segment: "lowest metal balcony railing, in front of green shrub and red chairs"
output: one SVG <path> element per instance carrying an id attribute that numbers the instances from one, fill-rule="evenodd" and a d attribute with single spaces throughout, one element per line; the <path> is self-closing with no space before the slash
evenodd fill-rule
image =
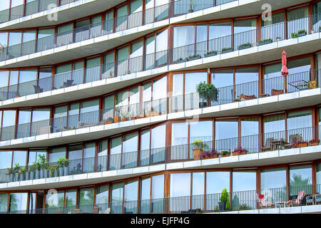
<path id="1" fill-rule="evenodd" d="M 250 209 L 303 207 L 321 204 L 321 185 L 47 207 L 1 214 L 195 214 Z M 93 202 L 93 199 L 92 199 Z"/>

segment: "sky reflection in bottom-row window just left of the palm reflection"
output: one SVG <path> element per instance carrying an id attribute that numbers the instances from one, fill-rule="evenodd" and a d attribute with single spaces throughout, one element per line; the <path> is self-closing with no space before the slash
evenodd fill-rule
<path id="1" fill-rule="evenodd" d="M 287 174 L 285 168 L 261 171 L 261 189 L 286 187 Z"/>

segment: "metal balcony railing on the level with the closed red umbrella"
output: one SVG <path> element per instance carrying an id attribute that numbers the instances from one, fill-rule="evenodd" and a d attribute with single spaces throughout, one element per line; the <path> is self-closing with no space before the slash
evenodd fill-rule
<path id="1" fill-rule="evenodd" d="M 213 107 L 227 103 L 263 98 L 283 93 L 319 88 L 317 76 L 320 70 L 293 73 L 287 77 L 267 78 L 260 81 L 236 84 L 203 91 L 187 93 L 158 100 L 150 100 L 129 105 L 116 105 L 114 108 L 95 110 L 74 115 L 61 115 L 57 118 L 11 125 L 0 128 L 0 141 L 30 136 L 58 133 L 65 130 L 118 123 L 138 118 L 152 117 L 184 110 Z"/>

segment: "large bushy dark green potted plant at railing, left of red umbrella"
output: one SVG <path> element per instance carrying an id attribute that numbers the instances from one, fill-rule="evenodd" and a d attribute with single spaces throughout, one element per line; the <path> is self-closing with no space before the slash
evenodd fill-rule
<path id="1" fill-rule="evenodd" d="M 200 108 L 205 108 L 207 105 L 211 106 L 211 101 L 218 100 L 218 89 L 213 84 L 200 82 L 196 86 L 196 92 L 200 95 Z"/>

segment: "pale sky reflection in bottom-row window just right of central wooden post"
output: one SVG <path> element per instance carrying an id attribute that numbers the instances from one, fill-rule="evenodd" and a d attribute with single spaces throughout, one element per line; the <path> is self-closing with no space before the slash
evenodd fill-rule
<path id="1" fill-rule="evenodd" d="M 170 197 L 190 195 L 190 173 L 170 174 Z"/>

